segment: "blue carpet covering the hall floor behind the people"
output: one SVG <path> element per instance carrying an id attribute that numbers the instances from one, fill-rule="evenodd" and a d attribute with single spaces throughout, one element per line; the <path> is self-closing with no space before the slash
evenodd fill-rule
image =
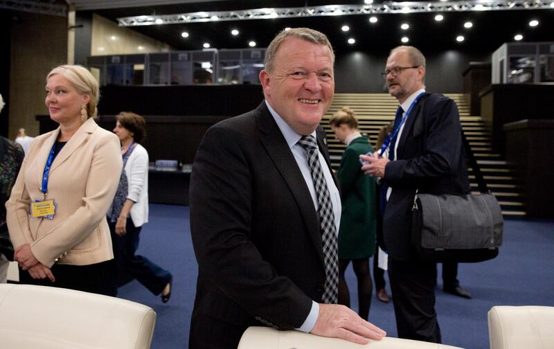
<path id="1" fill-rule="evenodd" d="M 119 290 L 121 298 L 143 303 L 157 312 L 154 349 L 188 346 L 197 276 L 188 215 L 185 206 L 150 205 L 150 223 L 141 232 L 139 254 L 174 276 L 169 303 L 161 303 L 136 280 Z M 352 308 L 357 310 L 356 279 L 351 267 L 346 278 Z M 554 306 L 554 222 L 506 221 L 499 256 L 487 262 L 461 264 L 458 279 L 472 293 L 472 299 L 443 293 L 442 280 L 438 280 L 436 310 L 443 343 L 468 349 L 489 348 L 487 312 L 493 305 Z M 392 303 L 374 297 L 369 317 L 389 336 L 396 337 Z"/>

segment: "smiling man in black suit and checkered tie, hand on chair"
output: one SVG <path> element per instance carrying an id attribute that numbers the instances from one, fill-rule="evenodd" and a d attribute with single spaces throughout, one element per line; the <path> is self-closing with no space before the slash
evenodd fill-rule
<path id="1" fill-rule="evenodd" d="M 322 33 L 283 30 L 260 72 L 265 100 L 208 129 L 199 146 L 191 349 L 236 348 L 252 325 L 358 343 L 385 335 L 332 304 L 341 205 L 319 123 L 334 94 L 333 63 Z"/>

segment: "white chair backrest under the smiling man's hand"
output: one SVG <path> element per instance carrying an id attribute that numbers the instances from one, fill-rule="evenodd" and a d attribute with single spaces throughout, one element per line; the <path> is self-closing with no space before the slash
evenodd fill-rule
<path id="1" fill-rule="evenodd" d="M 343 339 L 319 337 L 300 331 L 278 331 L 273 328 L 249 327 L 238 343 L 238 349 L 461 349 L 443 344 L 411 341 L 385 337 L 381 341 L 370 341 L 365 346 Z"/>

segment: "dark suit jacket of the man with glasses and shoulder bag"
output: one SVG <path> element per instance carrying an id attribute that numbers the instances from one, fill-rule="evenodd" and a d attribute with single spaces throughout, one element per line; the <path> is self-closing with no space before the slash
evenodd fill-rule
<path id="1" fill-rule="evenodd" d="M 396 260 L 412 260 L 411 208 L 419 193 L 462 194 L 467 179 L 460 115 L 454 100 L 425 93 L 406 119 L 397 157 L 387 163 L 386 183 L 393 188 L 383 217 L 386 251 Z"/>

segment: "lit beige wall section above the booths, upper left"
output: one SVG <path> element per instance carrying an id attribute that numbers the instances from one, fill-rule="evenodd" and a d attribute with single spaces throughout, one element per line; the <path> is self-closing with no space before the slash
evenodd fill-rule
<path id="1" fill-rule="evenodd" d="M 142 49 L 139 49 L 141 46 Z M 166 52 L 170 46 L 123 28 L 104 17 L 92 16 L 91 55 Z"/>

